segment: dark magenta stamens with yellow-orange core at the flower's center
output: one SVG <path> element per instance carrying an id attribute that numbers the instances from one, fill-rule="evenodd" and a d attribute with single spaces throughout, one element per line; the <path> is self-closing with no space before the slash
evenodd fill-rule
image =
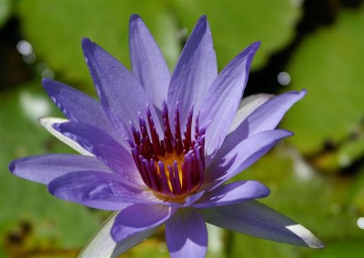
<path id="1" fill-rule="evenodd" d="M 144 183 L 158 197 L 179 201 L 195 193 L 204 181 L 205 128 L 199 128 L 198 115 L 192 137 L 192 109 L 187 116 L 186 130 L 181 134 L 176 106 L 174 133 L 168 119 L 166 102 L 162 106 L 164 137 L 159 138 L 149 107 L 147 123 L 139 114 L 139 130 L 131 124 L 134 141 L 129 140 L 136 168 Z"/>

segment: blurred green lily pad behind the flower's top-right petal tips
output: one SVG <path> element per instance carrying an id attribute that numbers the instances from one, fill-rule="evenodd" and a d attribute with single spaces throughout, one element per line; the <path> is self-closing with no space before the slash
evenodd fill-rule
<path id="1" fill-rule="evenodd" d="M 262 45 L 253 67 L 260 67 L 272 52 L 292 39 L 300 17 L 300 6 L 294 2 L 297 1 L 176 0 L 174 9 L 178 20 L 189 30 L 200 15 L 207 15 L 219 69 L 255 41 Z"/>

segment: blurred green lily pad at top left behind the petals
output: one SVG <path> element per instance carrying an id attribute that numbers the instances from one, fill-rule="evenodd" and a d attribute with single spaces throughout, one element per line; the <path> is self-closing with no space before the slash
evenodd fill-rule
<path id="1" fill-rule="evenodd" d="M 180 52 L 176 22 L 164 1 L 21 1 L 17 5 L 26 39 L 35 55 L 66 80 L 91 85 L 81 39 L 89 37 L 130 67 L 128 20 L 131 14 L 143 17 L 156 37 L 169 65 Z M 153 9 L 153 12 L 150 10 Z"/>

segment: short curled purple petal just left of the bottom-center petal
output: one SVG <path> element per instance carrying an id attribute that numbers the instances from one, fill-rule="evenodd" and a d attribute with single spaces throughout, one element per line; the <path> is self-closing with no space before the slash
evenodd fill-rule
<path id="1" fill-rule="evenodd" d="M 174 212 L 174 209 L 160 204 L 129 206 L 116 216 L 111 235 L 116 242 L 125 242 L 137 233 L 157 229 Z"/>

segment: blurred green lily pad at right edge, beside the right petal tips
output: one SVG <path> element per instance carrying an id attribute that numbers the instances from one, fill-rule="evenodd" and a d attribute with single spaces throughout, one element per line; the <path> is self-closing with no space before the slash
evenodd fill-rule
<path id="1" fill-rule="evenodd" d="M 306 88 L 308 94 L 282 127 L 298 135 L 289 142 L 304 154 L 319 152 L 326 142 L 337 146 L 362 122 L 363 26 L 364 8 L 342 11 L 334 25 L 308 35 L 288 64 L 292 83 L 285 91 Z"/>

